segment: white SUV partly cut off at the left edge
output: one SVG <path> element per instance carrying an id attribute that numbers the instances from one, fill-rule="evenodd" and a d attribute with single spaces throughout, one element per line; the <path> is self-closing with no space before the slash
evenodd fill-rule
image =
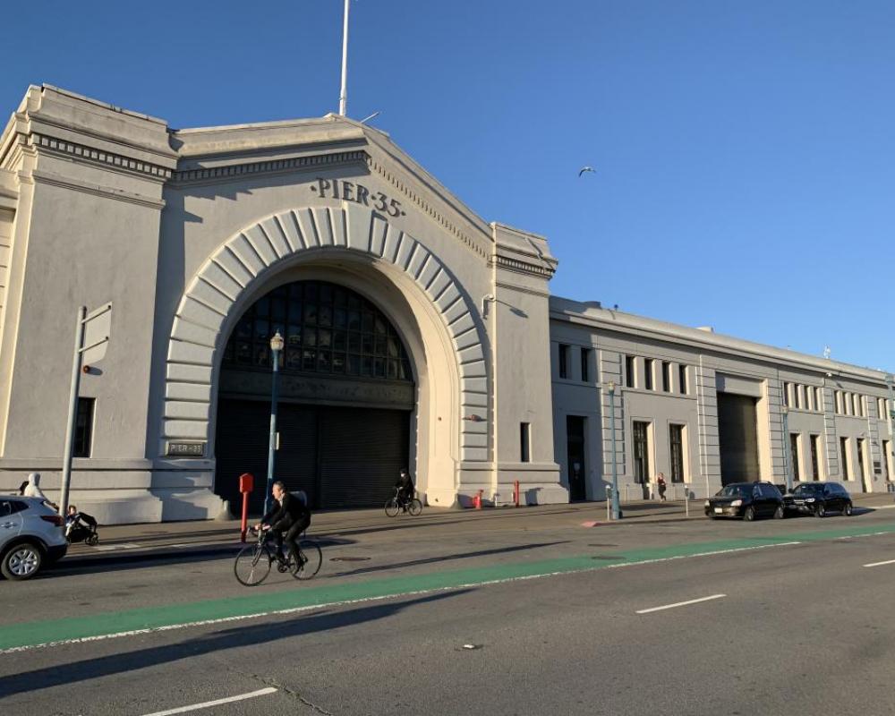
<path id="1" fill-rule="evenodd" d="M 68 549 L 63 519 L 43 499 L 0 495 L 0 572 L 30 579 Z"/>

